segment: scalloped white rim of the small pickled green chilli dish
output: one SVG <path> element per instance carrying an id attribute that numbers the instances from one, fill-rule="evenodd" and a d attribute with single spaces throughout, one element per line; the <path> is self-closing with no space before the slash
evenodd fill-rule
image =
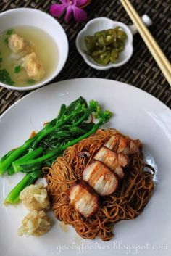
<path id="1" fill-rule="evenodd" d="M 120 63 L 113 63 L 113 64 L 109 64 L 107 66 L 103 66 L 103 65 L 96 65 L 94 64 L 93 62 L 91 62 L 88 57 L 87 57 L 87 54 L 83 52 L 82 49 L 80 49 L 80 45 L 79 45 L 79 41 L 80 41 L 80 38 L 82 36 L 82 33 L 84 33 L 87 29 L 88 29 L 88 26 L 91 25 L 91 23 L 93 22 L 97 22 L 99 20 L 108 20 L 110 22 L 117 22 L 117 24 L 119 25 L 122 25 L 126 30 L 129 31 L 129 41 L 128 41 L 128 44 L 129 44 L 129 47 L 130 47 L 130 54 L 128 55 L 128 57 L 126 57 L 122 62 Z M 133 55 L 133 33 L 131 33 L 131 30 L 130 28 L 128 27 L 128 25 L 125 25 L 125 23 L 123 22 L 120 22 L 120 21 L 117 21 L 117 20 L 112 20 L 108 17 L 96 17 L 92 20 L 90 20 L 86 25 L 85 27 L 79 31 L 78 35 L 77 35 L 77 38 L 76 38 L 76 41 L 75 41 L 75 44 L 76 44 L 76 48 L 78 49 L 78 52 L 79 54 L 83 57 L 84 61 L 91 67 L 93 67 L 94 69 L 96 70 L 109 70 L 110 68 L 114 68 L 114 67 L 121 67 L 122 65 L 125 65 L 126 62 L 128 62 L 128 60 L 132 57 Z"/>

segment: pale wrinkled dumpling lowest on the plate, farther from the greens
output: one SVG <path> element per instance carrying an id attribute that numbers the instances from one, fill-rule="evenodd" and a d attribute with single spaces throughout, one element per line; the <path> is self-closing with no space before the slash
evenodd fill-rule
<path id="1" fill-rule="evenodd" d="M 18 228 L 17 234 L 19 236 L 33 235 L 42 236 L 51 228 L 51 219 L 46 216 L 46 213 L 41 210 L 33 210 L 22 220 L 22 226 Z"/>

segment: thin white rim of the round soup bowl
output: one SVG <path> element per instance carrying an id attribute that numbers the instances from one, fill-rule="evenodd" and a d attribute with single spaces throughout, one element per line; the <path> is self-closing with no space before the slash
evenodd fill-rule
<path id="1" fill-rule="evenodd" d="M 61 72 L 61 70 L 63 69 L 63 67 L 64 67 L 64 65 L 67 61 L 68 52 L 69 52 L 69 42 L 68 42 L 67 34 L 65 33 L 64 28 L 62 27 L 62 25 L 54 17 L 52 17 L 51 15 L 49 15 L 46 12 L 41 11 L 40 9 L 33 9 L 33 8 L 27 8 L 27 7 L 9 9 L 5 12 L 0 13 L 0 19 L 1 19 L 1 17 L 5 16 L 5 15 L 8 15 L 11 12 L 35 12 L 35 13 L 39 13 L 40 15 L 44 15 L 44 17 L 52 20 L 54 23 L 57 22 L 59 27 L 62 30 L 62 34 L 64 36 L 64 41 L 66 42 L 66 49 L 64 50 L 65 55 L 64 55 L 64 57 L 62 57 L 62 59 L 64 59 L 63 65 L 59 68 L 58 71 L 56 71 L 57 69 L 54 70 L 54 73 L 52 73 L 49 76 L 49 78 L 46 78 L 46 80 L 43 80 L 42 82 L 37 83 L 34 86 L 9 86 L 8 84 L 2 83 L 2 82 L 0 82 L 0 86 L 2 86 L 4 88 L 9 88 L 9 89 L 12 89 L 12 90 L 15 90 L 15 91 L 29 91 L 29 90 L 33 90 L 33 89 L 36 89 L 36 88 L 40 88 L 41 86 L 45 86 L 51 80 L 56 78 L 57 75 L 59 75 L 59 73 Z"/>

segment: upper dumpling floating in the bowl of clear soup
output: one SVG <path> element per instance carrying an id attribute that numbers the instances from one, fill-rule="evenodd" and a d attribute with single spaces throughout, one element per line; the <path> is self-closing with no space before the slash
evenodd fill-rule
<path id="1" fill-rule="evenodd" d="M 20 35 L 12 34 L 9 36 L 8 40 L 9 48 L 14 52 L 14 54 L 28 54 L 31 51 L 34 51 L 34 45 L 31 42 L 28 42 Z"/>

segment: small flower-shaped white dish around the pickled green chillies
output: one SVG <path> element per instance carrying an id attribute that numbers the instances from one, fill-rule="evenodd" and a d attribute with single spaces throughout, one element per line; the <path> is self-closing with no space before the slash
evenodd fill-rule
<path id="1" fill-rule="evenodd" d="M 120 52 L 120 57 L 115 63 L 108 64 L 106 66 L 99 65 L 93 60 L 93 58 L 91 58 L 91 56 L 88 56 L 88 54 L 86 54 L 86 44 L 84 38 L 85 36 L 93 36 L 94 33 L 98 31 L 106 30 L 109 28 L 116 28 L 117 26 L 122 28 L 122 30 L 124 30 L 128 36 L 125 41 L 125 49 L 124 51 Z M 83 30 L 80 30 L 76 38 L 76 47 L 80 55 L 89 66 L 95 68 L 96 70 L 109 70 L 109 68 L 120 67 L 128 62 L 133 54 L 133 34 L 131 33 L 128 26 L 124 23 L 110 20 L 107 17 L 99 17 L 89 21 L 86 24 L 85 28 L 83 28 Z"/>

